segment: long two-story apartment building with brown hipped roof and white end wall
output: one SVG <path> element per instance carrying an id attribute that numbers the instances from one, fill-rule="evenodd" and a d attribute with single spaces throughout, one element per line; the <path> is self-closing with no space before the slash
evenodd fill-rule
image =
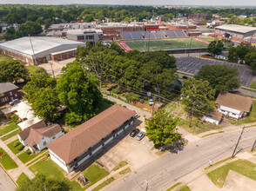
<path id="1" fill-rule="evenodd" d="M 131 127 L 135 114 L 129 109 L 113 105 L 48 144 L 51 160 L 71 173 Z"/>

